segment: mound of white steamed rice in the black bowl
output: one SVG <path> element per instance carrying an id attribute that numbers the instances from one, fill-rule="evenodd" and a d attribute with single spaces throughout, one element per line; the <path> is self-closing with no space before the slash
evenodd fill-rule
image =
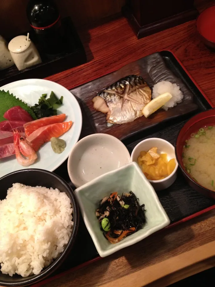
<path id="1" fill-rule="evenodd" d="M 1 272 L 39 274 L 69 241 L 72 212 L 70 199 L 58 189 L 13 184 L 0 201 Z"/>

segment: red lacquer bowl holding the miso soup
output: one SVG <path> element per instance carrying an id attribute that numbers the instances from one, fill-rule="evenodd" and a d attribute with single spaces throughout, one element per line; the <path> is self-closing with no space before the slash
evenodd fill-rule
<path id="1" fill-rule="evenodd" d="M 191 133 L 198 131 L 203 126 L 215 126 L 215 109 L 210 109 L 205 112 L 201 112 L 194 117 L 191 117 L 185 125 L 180 130 L 176 144 L 175 144 L 175 152 L 176 159 L 178 161 L 179 167 L 182 170 L 183 175 L 185 176 L 188 184 L 199 193 L 204 194 L 205 196 L 212 197 L 215 199 L 215 192 L 213 190 L 207 189 L 202 185 L 198 184 L 194 181 L 188 172 L 186 172 L 185 167 L 182 162 L 182 152 L 185 141 L 190 137 Z"/>

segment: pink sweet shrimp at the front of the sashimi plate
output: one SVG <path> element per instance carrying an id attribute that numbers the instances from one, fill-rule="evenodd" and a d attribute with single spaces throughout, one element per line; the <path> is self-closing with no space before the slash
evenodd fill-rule
<path id="1" fill-rule="evenodd" d="M 13 131 L 13 142 L 15 147 L 16 159 L 23 167 L 33 164 L 37 155 L 34 149 L 28 144 L 25 138 L 20 137 L 19 132 Z M 24 158 L 26 157 L 26 158 Z"/>

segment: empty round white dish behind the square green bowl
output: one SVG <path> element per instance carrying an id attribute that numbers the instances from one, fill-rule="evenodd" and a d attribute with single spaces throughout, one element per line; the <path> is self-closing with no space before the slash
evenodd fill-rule
<path id="1" fill-rule="evenodd" d="M 76 187 L 131 161 L 126 146 L 107 134 L 93 134 L 82 138 L 68 158 L 69 177 Z"/>

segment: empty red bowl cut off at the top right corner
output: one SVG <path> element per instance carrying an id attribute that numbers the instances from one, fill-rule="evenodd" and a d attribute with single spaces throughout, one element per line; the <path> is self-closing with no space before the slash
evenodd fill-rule
<path id="1" fill-rule="evenodd" d="M 215 49 L 215 5 L 199 14 L 196 29 L 202 42 L 209 48 Z"/>

